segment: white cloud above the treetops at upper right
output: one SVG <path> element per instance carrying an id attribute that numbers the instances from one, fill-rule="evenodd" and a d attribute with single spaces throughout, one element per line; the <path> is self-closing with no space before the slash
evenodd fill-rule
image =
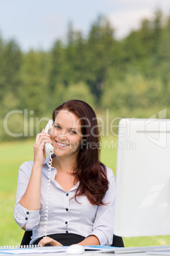
<path id="1" fill-rule="evenodd" d="M 149 9 L 143 10 L 122 10 L 108 15 L 110 24 L 115 29 L 115 37 L 117 39 L 127 36 L 130 31 L 139 29 L 141 20 L 144 18 L 152 19 L 153 11 Z"/>

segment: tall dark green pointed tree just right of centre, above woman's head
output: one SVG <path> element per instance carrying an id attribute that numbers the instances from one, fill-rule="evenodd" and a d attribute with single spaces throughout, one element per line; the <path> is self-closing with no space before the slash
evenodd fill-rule
<path id="1" fill-rule="evenodd" d="M 107 69 L 112 63 L 114 42 L 114 29 L 107 19 L 98 17 L 91 27 L 87 42 L 89 72 L 86 80 L 97 99 L 100 99 Z"/>

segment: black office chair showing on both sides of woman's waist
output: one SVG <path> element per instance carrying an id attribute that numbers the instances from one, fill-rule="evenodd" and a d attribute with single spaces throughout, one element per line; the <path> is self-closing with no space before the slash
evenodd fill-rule
<path id="1" fill-rule="evenodd" d="M 23 238 L 22 238 L 21 245 L 29 245 L 31 236 L 32 236 L 32 231 L 25 231 Z M 124 247 L 123 239 L 121 238 L 121 236 L 114 235 L 111 246 Z"/>

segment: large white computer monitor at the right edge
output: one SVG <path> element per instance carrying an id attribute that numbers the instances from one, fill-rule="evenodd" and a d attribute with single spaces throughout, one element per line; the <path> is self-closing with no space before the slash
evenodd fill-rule
<path id="1" fill-rule="evenodd" d="M 119 122 L 114 234 L 170 234 L 169 119 Z"/>

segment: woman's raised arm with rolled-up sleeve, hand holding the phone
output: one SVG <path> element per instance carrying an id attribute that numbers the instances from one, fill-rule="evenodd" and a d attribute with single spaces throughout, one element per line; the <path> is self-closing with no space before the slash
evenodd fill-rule
<path id="1" fill-rule="evenodd" d="M 49 135 L 42 130 L 37 134 L 34 143 L 34 162 L 22 164 L 18 174 L 18 186 L 15 204 L 15 220 L 27 230 L 35 229 L 39 223 L 39 209 L 41 207 L 41 173 L 44 160 L 44 144 L 51 143 Z"/>

